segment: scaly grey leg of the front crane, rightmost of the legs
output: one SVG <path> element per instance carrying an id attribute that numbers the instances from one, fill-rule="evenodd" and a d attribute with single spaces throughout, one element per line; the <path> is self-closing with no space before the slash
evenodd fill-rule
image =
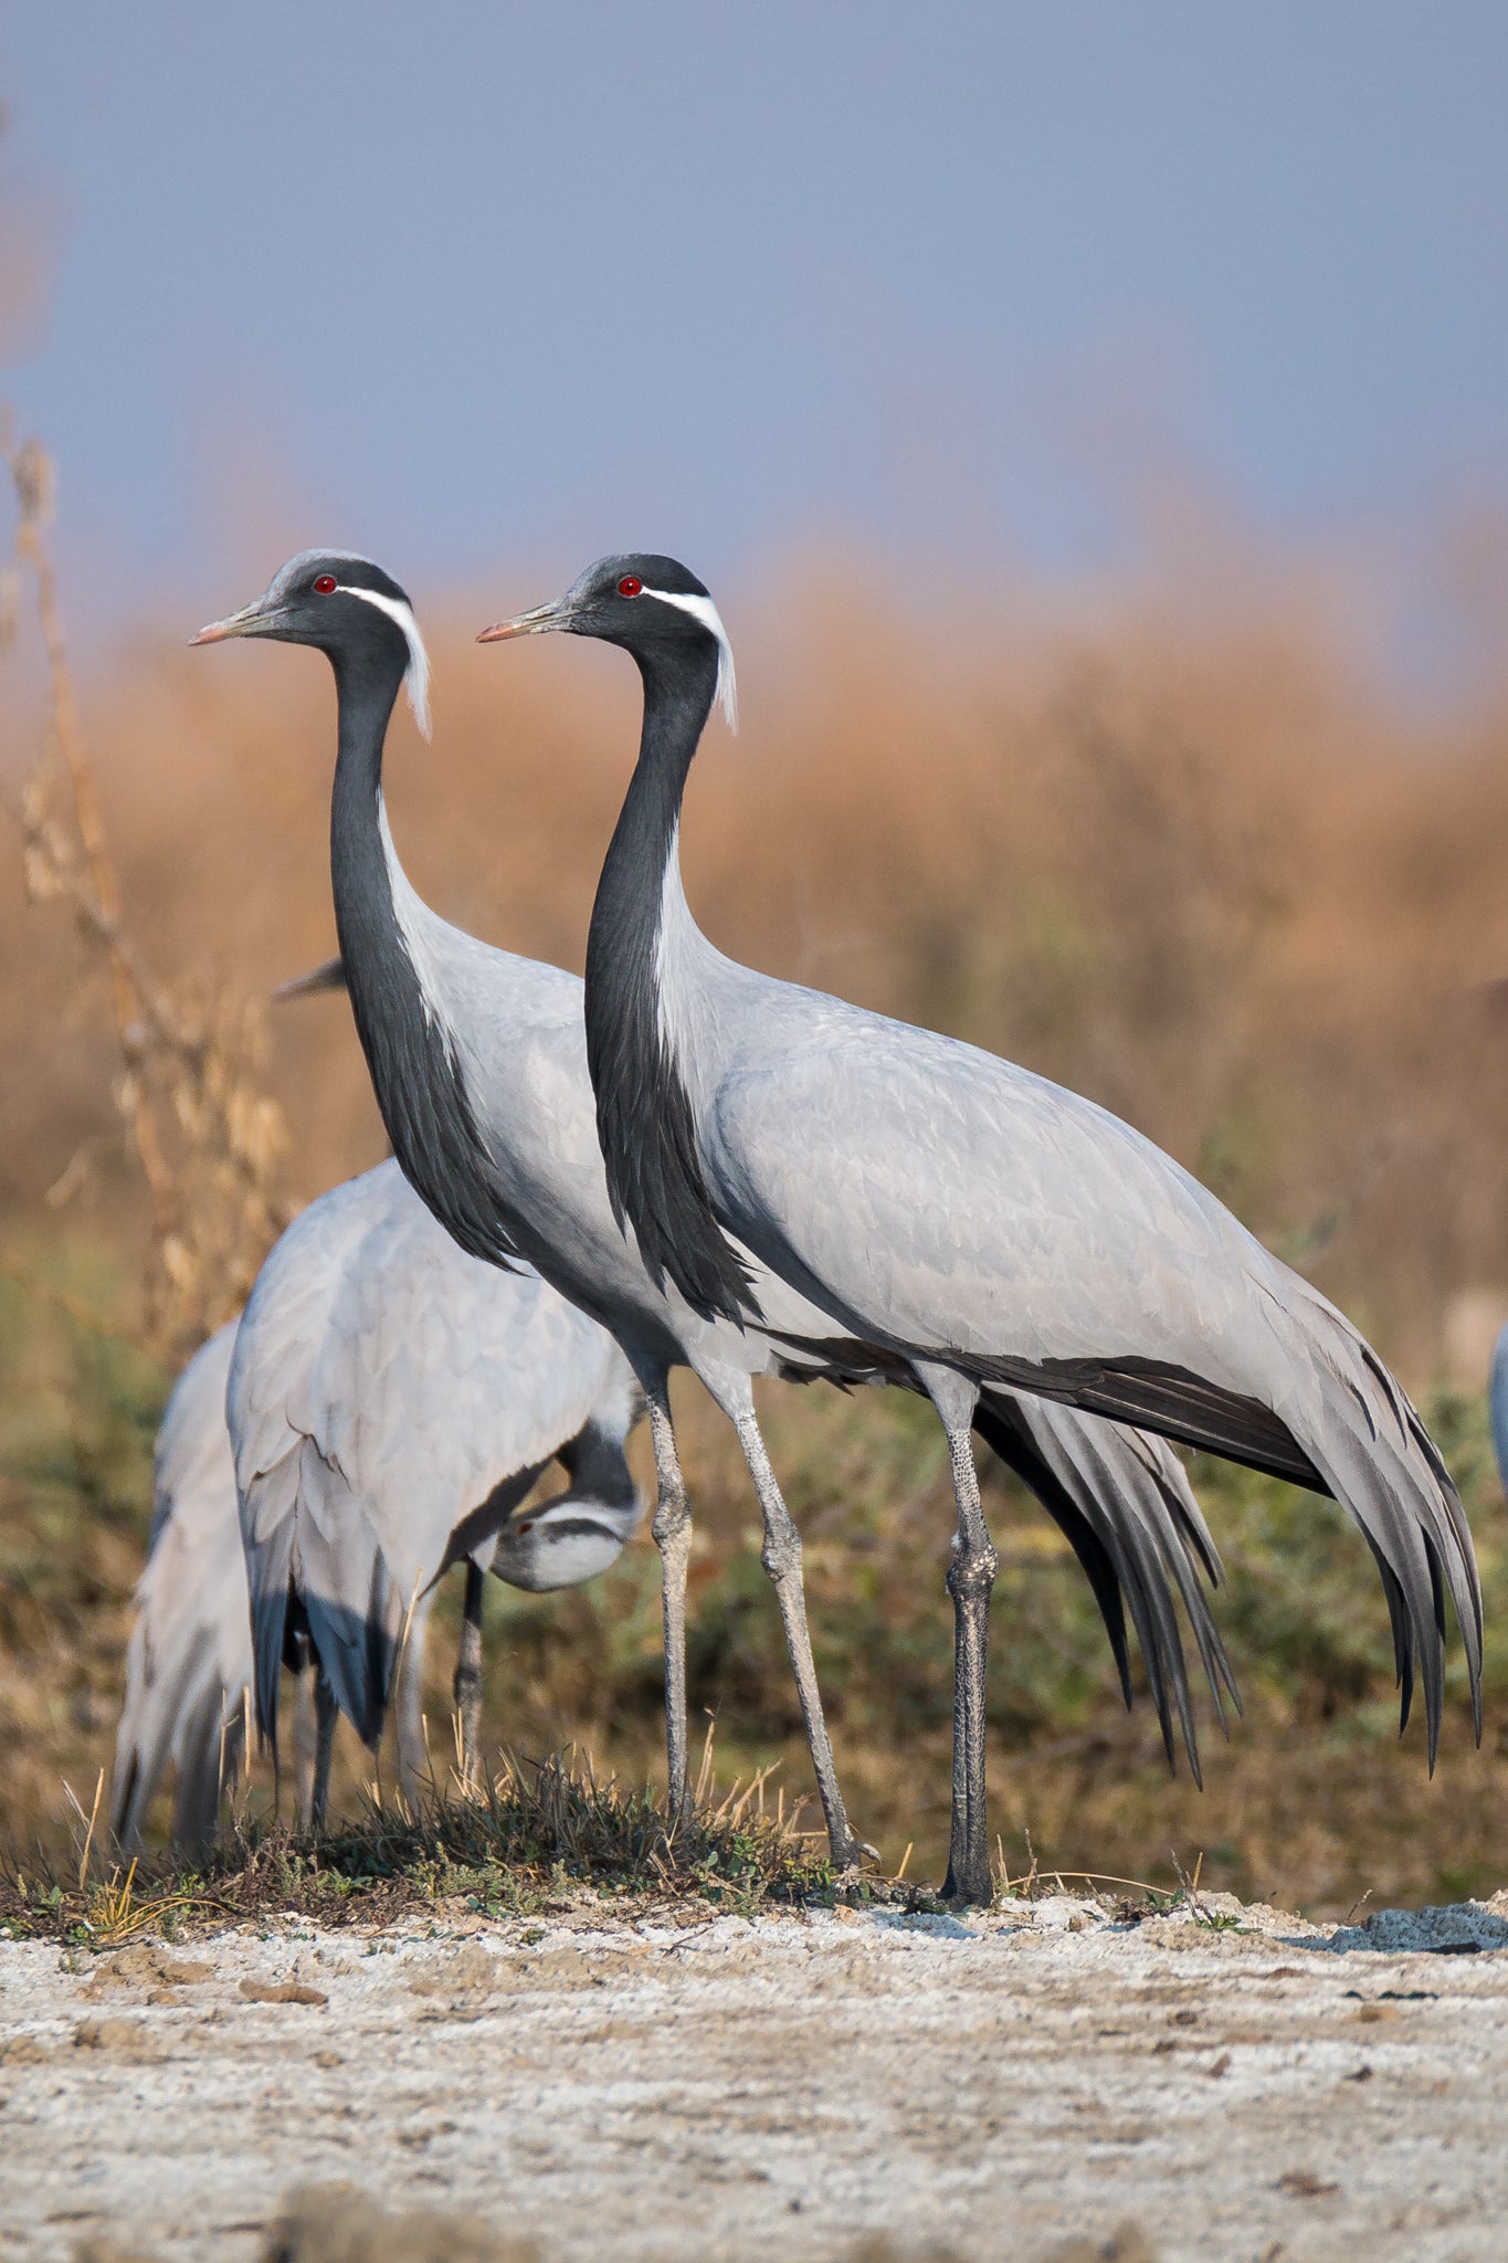
<path id="1" fill-rule="evenodd" d="M 990 1589 L 999 1557 L 979 1505 L 979 1471 L 970 1437 L 977 1392 L 950 1369 L 927 1369 L 922 1380 L 947 1430 L 959 1505 L 954 1559 L 947 1566 L 947 1593 L 954 1600 L 954 1797 L 943 1899 L 988 1910 L 995 1881 L 983 1795 L 983 1668 L 990 1643 Z"/>

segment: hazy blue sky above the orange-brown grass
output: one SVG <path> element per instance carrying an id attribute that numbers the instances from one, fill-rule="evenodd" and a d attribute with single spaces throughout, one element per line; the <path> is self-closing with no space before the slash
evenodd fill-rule
<path id="1" fill-rule="evenodd" d="M 1169 466 L 1508 500 L 1501 0 L 9 0 L 0 91 L 86 622 L 303 541 L 1097 570 Z"/>

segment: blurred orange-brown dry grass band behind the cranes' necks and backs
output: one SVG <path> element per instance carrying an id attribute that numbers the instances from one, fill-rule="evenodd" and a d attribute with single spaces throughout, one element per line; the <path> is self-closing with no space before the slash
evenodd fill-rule
<path id="1" fill-rule="evenodd" d="M 448 914 L 579 964 L 635 679 L 595 647 L 470 643 L 531 593 L 432 613 L 436 742 L 396 724 L 393 826 Z M 1298 611 L 1126 600 L 1026 643 L 1006 600 L 918 622 L 794 570 L 733 613 L 746 731 L 710 740 L 685 831 L 726 948 L 1126 1113 L 1415 1380 L 1463 1297 L 1508 1310 L 1508 1016 L 1483 993 L 1508 973 L 1508 699 L 1406 715 Z M 99 801 L 147 960 L 258 998 L 332 948 L 332 690 L 314 654 L 185 652 L 183 627 L 86 681 Z M 18 885 L 0 950 L 0 1222 L 34 1222 L 84 1147 L 79 1217 L 129 1247 L 99 975 Z M 339 1000 L 274 1016 L 271 1089 L 305 1193 L 382 1152 Z"/>

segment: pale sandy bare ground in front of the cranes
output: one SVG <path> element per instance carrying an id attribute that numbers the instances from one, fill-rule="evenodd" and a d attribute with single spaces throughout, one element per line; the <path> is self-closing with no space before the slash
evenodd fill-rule
<path id="1" fill-rule="evenodd" d="M 298 2184 L 549 2256 L 1508 2256 L 1508 1896 L 1336 1933 L 1058 1896 L 84 1957 L 0 1944 L 0 2258 L 251 2263 Z"/>

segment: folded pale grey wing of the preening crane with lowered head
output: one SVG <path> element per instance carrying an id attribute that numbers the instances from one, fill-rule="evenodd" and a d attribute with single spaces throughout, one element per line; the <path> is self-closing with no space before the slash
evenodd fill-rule
<path id="1" fill-rule="evenodd" d="M 396 1163 L 301 1213 L 251 1292 L 228 1394 L 267 1733 L 289 1584 L 375 1740 L 454 1528 L 574 1437 L 615 1358 L 538 1274 L 466 1256 Z"/>

